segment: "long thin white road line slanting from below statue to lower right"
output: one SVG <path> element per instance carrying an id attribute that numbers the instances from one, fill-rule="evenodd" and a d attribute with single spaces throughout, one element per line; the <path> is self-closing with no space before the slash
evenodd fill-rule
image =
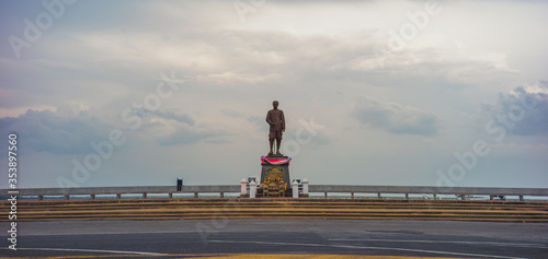
<path id="1" fill-rule="evenodd" d="M 230 242 L 230 240 L 208 240 L 208 242 L 212 242 L 212 243 L 232 243 L 232 244 L 282 245 L 282 246 L 285 245 L 285 246 L 338 247 L 338 248 L 353 248 L 353 249 L 376 249 L 376 250 L 415 251 L 415 252 L 424 252 L 424 254 L 438 254 L 438 255 L 452 255 L 452 256 L 468 256 L 468 257 L 525 259 L 525 258 L 518 258 L 518 257 L 505 257 L 505 256 L 481 255 L 481 254 L 467 254 L 467 252 L 453 252 L 453 251 L 435 251 L 435 250 L 409 249 L 409 248 L 397 248 L 397 247 L 367 247 L 367 246 L 347 246 L 347 245 L 277 243 L 277 242 Z"/>

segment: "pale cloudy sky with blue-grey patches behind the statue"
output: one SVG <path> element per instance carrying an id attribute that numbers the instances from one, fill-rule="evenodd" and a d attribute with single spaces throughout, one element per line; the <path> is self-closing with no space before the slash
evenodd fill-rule
<path id="1" fill-rule="evenodd" d="M 44 2 L 0 1 L 20 187 L 237 185 L 274 99 L 293 178 L 548 187 L 545 1 Z"/>

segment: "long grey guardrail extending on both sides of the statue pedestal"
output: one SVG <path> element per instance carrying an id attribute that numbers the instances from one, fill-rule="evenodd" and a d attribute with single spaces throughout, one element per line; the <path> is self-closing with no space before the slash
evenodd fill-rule
<path id="1" fill-rule="evenodd" d="M 548 197 L 548 188 L 494 188 L 494 187 L 427 187 L 427 186 L 350 186 L 350 185 L 309 185 L 309 192 L 323 192 L 328 197 L 329 192 L 336 193 L 399 193 L 406 195 L 458 195 L 465 198 L 467 195 L 483 195 L 490 196 L 491 199 L 496 196 L 518 196 L 520 200 L 524 200 L 524 196 L 545 196 Z M 16 193 L 15 193 L 16 191 Z M 173 193 L 220 193 L 224 197 L 225 192 L 240 193 L 241 189 L 238 185 L 216 185 L 216 186 L 183 186 L 181 191 L 176 190 L 175 186 L 130 186 L 130 187 L 80 187 L 80 188 L 22 188 L 22 189 L 0 189 L 0 196 L 37 196 L 43 199 L 44 196 L 65 196 L 69 199 L 70 196 L 89 195 L 94 199 L 96 195 L 121 195 L 141 193 L 142 198 L 147 198 L 147 193 L 168 193 L 172 198 Z"/>

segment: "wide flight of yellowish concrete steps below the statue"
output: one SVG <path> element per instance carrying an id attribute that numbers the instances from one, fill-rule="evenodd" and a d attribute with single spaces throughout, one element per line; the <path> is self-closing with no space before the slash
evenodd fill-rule
<path id="1" fill-rule="evenodd" d="M 7 201 L 0 213 L 8 213 Z M 548 222 L 548 202 L 372 199 L 118 199 L 18 201 L 18 221 L 384 219 Z M 8 217 L 0 221 L 8 221 Z"/>

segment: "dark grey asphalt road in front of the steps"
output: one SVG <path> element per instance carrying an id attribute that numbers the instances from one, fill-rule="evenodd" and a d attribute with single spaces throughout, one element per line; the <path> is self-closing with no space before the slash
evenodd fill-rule
<path id="1" fill-rule="evenodd" d="M 0 226 L 9 229 L 7 222 Z M 18 250 L 8 249 L 7 238 L 2 244 L 0 255 L 7 257 L 313 254 L 548 258 L 548 224 L 222 217 L 19 222 Z"/>

